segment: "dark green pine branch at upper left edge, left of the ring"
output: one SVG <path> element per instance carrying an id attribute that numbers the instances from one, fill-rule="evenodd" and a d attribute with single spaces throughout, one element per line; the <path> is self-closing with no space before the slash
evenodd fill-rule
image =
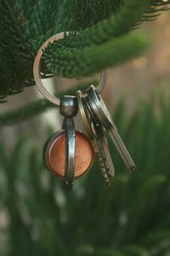
<path id="1" fill-rule="evenodd" d="M 35 55 L 26 30 L 26 20 L 15 1 L 0 2 L 1 97 L 19 92 L 31 77 Z"/>

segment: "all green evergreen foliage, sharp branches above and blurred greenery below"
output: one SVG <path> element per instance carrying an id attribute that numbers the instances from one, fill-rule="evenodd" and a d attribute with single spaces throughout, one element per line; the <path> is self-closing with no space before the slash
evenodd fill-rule
<path id="1" fill-rule="evenodd" d="M 44 52 L 43 77 L 48 73 L 67 78 L 88 76 L 144 54 L 150 41 L 137 28 L 144 21 L 155 20 L 169 8 L 169 3 L 1 0 L 1 102 L 35 84 L 34 57 L 40 45 L 54 33 L 69 31 L 70 35 L 49 45 Z M 77 84 L 74 90 L 83 86 Z M 71 90 L 65 94 L 71 94 Z M 160 119 L 154 111 L 158 106 Z M 47 108 L 53 106 L 45 100 L 31 102 L 1 114 L 0 126 L 16 124 Z M 116 108 L 114 119 L 140 172 L 125 172 L 111 148 L 119 170 L 111 189 L 105 189 L 94 165 L 67 195 L 42 166 L 42 147 L 20 138 L 11 154 L 7 154 L 1 143 L 0 207 L 6 209 L 9 222 L 6 229 L 0 230 L 4 239 L 0 254 L 168 255 L 169 111 L 169 103 L 162 96 L 153 96 L 148 104 L 141 104 L 130 120 L 126 119 L 122 102 Z"/>

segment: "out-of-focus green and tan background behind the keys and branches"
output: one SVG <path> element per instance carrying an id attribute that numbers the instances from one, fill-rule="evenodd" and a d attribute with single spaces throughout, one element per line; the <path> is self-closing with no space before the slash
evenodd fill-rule
<path id="1" fill-rule="evenodd" d="M 109 141 L 116 166 L 111 188 L 95 163 L 68 194 L 42 164 L 55 113 L 1 128 L 1 256 L 170 255 L 169 20 L 165 13 L 143 26 L 153 46 L 144 57 L 110 69 L 103 94 L 137 172 L 127 172 Z M 35 91 L 13 96 L 1 111 L 22 106 Z"/>

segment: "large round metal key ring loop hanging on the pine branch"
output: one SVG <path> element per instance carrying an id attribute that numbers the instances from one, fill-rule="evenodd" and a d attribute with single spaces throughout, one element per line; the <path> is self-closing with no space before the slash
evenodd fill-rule
<path id="1" fill-rule="evenodd" d="M 41 78 L 41 72 L 40 72 L 41 57 L 43 54 L 43 50 L 48 47 L 48 44 L 53 44 L 54 41 L 63 39 L 65 37 L 65 34 L 68 35 L 69 32 L 60 32 L 58 34 L 55 34 L 51 38 L 48 38 L 42 44 L 42 46 L 38 49 L 37 55 L 34 60 L 34 65 L 33 65 L 34 80 L 37 84 L 38 90 L 41 92 L 42 96 L 44 96 L 49 102 L 52 102 L 52 103 L 54 103 L 54 105 L 57 105 L 57 106 L 59 106 L 59 103 L 60 103 L 59 98 L 54 96 L 53 94 L 51 94 L 42 84 L 42 78 Z M 106 70 L 103 70 L 101 73 L 99 84 L 95 89 L 98 94 L 101 92 L 101 90 L 104 89 L 105 84 L 106 84 L 106 79 L 107 79 L 107 72 L 106 72 Z"/>

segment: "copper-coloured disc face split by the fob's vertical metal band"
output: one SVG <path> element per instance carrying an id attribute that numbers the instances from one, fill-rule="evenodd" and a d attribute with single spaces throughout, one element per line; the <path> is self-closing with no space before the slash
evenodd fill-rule
<path id="1" fill-rule="evenodd" d="M 45 161 L 49 171 L 59 177 L 65 173 L 65 132 L 56 134 L 45 149 Z M 75 177 L 88 172 L 94 161 L 91 143 L 81 131 L 76 131 Z"/>

